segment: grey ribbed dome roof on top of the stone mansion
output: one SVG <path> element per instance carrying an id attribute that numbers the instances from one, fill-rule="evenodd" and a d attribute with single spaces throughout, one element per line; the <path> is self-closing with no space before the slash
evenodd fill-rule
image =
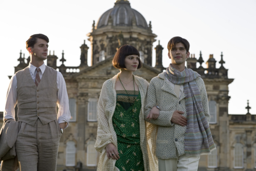
<path id="1" fill-rule="evenodd" d="M 147 29 L 147 23 L 143 15 L 132 9 L 127 0 L 117 0 L 114 8 L 104 12 L 98 20 L 97 28 L 107 26 L 109 19 L 113 20 L 113 26 L 132 26 L 134 20 L 137 27 Z"/>

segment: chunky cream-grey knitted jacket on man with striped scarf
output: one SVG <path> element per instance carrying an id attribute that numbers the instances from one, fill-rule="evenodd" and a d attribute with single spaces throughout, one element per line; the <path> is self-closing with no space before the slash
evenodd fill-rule
<path id="1" fill-rule="evenodd" d="M 199 87 L 204 114 L 209 123 L 210 115 L 204 81 L 199 77 L 196 79 L 196 82 Z M 164 73 L 153 78 L 148 87 L 144 108 L 144 119 L 147 122 L 148 119 L 146 119 L 146 117 L 155 105 L 159 106 L 159 117 L 156 120 L 150 121 L 150 123 L 158 125 L 157 131 L 155 131 L 157 134 L 156 149 L 153 149 L 153 151 L 156 151 L 156 156 L 160 159 L 177 158 L 176 148 L 179 156 L 184 155 L 184 135 L 186 126 L 174 124 L 170 120 L 176 110 L 184 112 L 182 116 L 187 117 L 185 94 L 183 93 L 181 97 L 178 97 L 174 89 L 165 80 Z M 154 137 L 155 135 L 152 136 Z M 155 143 L 153 142 L 152 144 Z"/>

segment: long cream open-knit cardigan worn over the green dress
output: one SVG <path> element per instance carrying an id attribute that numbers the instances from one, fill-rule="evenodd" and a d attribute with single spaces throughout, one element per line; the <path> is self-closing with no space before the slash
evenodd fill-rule
<path id="1" fill-rule="evenodd" d="M 119 171 L 115 166 L 116 160 L 109 159 L 106 155 L 106 145 L 113 143 L 117 149 L 117 136 L 113 127 L 112 117 L 116 108 L 116 91 L 115 91 L 115 82 L 117 75 L 113 78 L 106 80 L 103 83 L 99 101 L 98 101 L 98 131 L 97 139 L 95 143 L 95 148 L 98 152 L 101 153 L 98 163 L 97 170 L 108 170 L 108 171 Z M 150 123 L 145 123 L 144 121 L 144 102 L 148 87 L 148 82 L 138 76 L 134 76 L 135 82 L 139 87 L 141 95 L 141 110 L 139 114 L 140 122 L 140 147 L 143 154 L 144 161 L 144 171 L 148 170 L 158 170 L 158 161 L 157 158 L 152 155 L 152 145 L 149 140 L 151 137 L 151 132 L 154 126 Z M 147 134 L 146 134 L 147 130 Z M 148 143 L 149 142 L 149 143 Z M 150 152 L 148 155 L 147 152 Z"/>

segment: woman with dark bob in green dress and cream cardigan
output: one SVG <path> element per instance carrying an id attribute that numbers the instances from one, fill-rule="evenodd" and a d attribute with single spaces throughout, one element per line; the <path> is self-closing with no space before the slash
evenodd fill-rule
<path id="1" fill-rule="evenodd" d="M 153 155 L 147 153 L 151 152 L 146 135 L 150 123 L 145 123 L 143 112 L 148 82 L 133 75 L 142 67 L 140 54 L 123 45 L 112 63 L 120 72 L 103 83 L 98 101 L 97 170 L 158 170 Z"/>

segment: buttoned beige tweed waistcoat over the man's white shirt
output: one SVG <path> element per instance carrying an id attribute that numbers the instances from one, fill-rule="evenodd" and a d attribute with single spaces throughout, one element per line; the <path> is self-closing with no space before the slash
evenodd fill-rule
<path id="1" fill-rule="evenodd" d="M 18 121 L 34 125 L 37 118 L 42 124 L 57 119 L 57 71 L 47 67 L 36 87 L 29 68 L 16 73 Z"/>

